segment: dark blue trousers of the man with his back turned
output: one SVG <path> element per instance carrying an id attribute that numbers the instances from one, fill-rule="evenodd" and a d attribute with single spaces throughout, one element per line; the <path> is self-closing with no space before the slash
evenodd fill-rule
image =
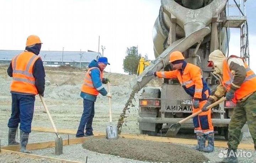
<path id="1" fill-rule="evenodd" d="M 17 128 L 20 123 L 20 130 L 26 133 L 31 132 L 31 123 L 34 114 L 33 95 L 11 94 L 12 96 L 12 113 L 8 122 L 8 127 Z"/>

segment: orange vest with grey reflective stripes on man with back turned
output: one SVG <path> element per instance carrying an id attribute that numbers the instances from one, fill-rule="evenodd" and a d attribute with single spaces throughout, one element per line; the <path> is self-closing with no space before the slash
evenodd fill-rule
<path id="1" fill-rule="evenodd" d="M 38 58 L 38 55 L 24 51 L 12 59 L 12 92 L 38 94 L 33 76 L 33 66 Z"/>

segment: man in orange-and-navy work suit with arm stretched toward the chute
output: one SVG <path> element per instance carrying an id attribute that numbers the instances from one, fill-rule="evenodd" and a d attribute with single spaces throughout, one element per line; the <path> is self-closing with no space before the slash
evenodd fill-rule
<path id="1" fill-rule="evenodd" d="M 170 54 L 170 63 L 174 71 L 149 71 L 146 76 L 155 75 L 161 78 L 178 78 L 184 90 L 193 98 L 193 113 L 201 110 L 206 104 L 210 89 L 204 81 L 201 70 L 198 66 L 187 63 L 180 51 Z M 194 132 L 197 135 L 198 145 L 196 150 L 212 152 L 214 150 L 214 130 L 211 120 L 211 111 L 204 112 L 193 118 Z M 205 147 L 206 139 L 208 146 Z"/>

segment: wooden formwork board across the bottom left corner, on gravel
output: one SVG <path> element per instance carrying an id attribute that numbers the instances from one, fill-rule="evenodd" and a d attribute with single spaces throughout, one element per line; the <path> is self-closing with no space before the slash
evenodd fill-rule
<path id="1" fill-rule="evenodd" d="M 39 156 L 36 154 L 27 154 L 27 153 L 21 153 L 21 152 L 16 152 L 16 151 L 10 151 L 10 150 L 3 150 L 1 149 L 1 153 L 7 153 L 7 154 L 18 154 L 21 157 L 28 157 L 28 158 L 33 158 L 33 159 L 48 159 L 50 161 L 58 161 L 62 163 L 82 163 L 82 162 L 77 162 L 77 161 L 69 161 L 65 159 L 58 159 L 58 158 L 53 158 L 53 157 L 46 157 L 46 156 Z"/>

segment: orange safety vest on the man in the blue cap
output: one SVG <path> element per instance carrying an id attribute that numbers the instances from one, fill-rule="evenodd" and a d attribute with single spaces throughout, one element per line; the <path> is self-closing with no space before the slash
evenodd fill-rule
<path id="1" fill-rule="evenodd" d="M 82 89 L 82 92 L 97 96 L 99 94 L 98 90 L 102 89 L 103 86 L 98 87 L 97 89 L 93 86 L 92 79 L 91 79 L 91 70 L 92 69 L 100 70 L 98 67 L 89 68 L 89 70 L 86 72 L 85 80 L 84 80 L 84 83 L 83 83 L 81 89 Z M 102 81 L 102 78 L 103 78 L 103 72 L 100 70 L 100 79 L 101 79 L 101 81 Z"/>

